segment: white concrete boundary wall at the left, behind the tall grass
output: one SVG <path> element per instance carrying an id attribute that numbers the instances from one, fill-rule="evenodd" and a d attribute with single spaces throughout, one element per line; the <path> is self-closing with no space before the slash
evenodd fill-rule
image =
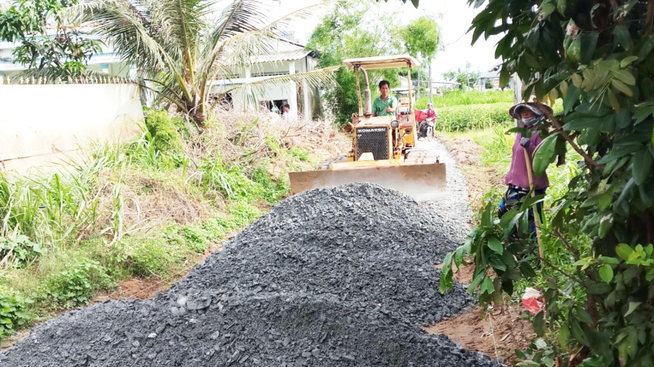
<path id="1" fill-rule="evenodd" d="M 136 84 L 0 85 L 0 169 L 51 165 L 90 140 L 126 140 L 139 120 Z"/>

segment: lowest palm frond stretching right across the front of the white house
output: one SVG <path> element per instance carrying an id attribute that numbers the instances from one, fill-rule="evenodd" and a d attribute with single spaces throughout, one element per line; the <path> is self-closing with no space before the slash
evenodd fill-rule
<path id="1" fill-rule="evenodd" d="M 263 80 L 257 80 L 256 82 L 251 82 L 247 84 L 241 84 L 240 86 L 235 86 L 222 93 L 218 94 L 216 101 L 211 104 L 209 111 L 215 108 L 218 101 L 228 93 L 243 93 L 245 95 L 246 101 L 250 105 L 256 105 L 256 96 L 263 95 L 271 88 L 275 88 L 280 84 L 286 84 L 290 82 L 302 83 L 305 84 L 310 90 L 324 84 L 335 83 L 334 72 L 336 72 L 339 67 L 326 67 L 324 69 L 317 69 L 313 71 L 300 72 L 298 74 L 286 74 L 271 76 Z"/>

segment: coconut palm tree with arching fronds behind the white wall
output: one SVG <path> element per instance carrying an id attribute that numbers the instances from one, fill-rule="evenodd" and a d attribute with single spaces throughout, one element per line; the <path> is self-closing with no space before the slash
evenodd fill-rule
<path id="1" fill-rule="evenodd" d="M 270 22 L 258 0 L 91 0 L 70 8 L 79 23 L 111 44 L 122 59 L 135 64 L 143 87 L 177 105 L 202 127 L 216 106 L 209 103 L 215 80 L 252 64 L 253 57 L 273 52 L 275 33 L 293 18 L 305 18 L 307 7 Z M 258 91 L 283 82 L 330 81 L 334 68 L 318 69 L 235 86 L 223 95 Z M 149 86 L 148 86 L 149 85 Z M 220 99 L 220 96 L 218 96 Z"/>

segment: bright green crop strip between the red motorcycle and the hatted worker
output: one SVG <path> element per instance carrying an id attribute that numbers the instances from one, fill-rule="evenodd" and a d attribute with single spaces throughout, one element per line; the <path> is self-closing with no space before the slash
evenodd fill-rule
<path id="1" fill-rule="evenodd" d="M 438 124 L 441 131 L 466 131 L 483 129 L 504 121 L 513 120 L 509 108 L 513 103 L 488 103 L 450 106 L 438 109 Z"/>

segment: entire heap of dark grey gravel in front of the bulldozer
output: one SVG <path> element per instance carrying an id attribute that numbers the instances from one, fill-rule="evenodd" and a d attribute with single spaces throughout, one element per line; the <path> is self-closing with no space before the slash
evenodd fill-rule
<path id="1" fill-rule="evenodd" d="M 0 365 L 492 366 L 418 327 L 472 306 L 433 266 L 458 225 L 377 185 L 309 191 L 169 291 L 61 315 Z"/>

